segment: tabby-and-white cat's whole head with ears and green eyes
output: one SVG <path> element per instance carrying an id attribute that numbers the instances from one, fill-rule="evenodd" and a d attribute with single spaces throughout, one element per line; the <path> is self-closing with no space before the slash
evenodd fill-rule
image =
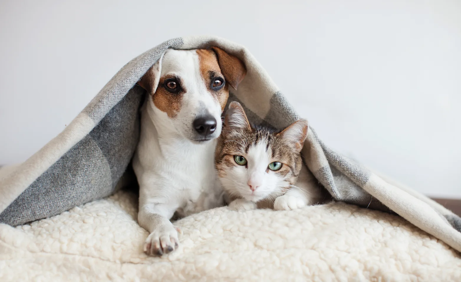
<path id="1" fill-rule="evenodd" d="M 248 122 L 242 105 L 231 102 L 215 151 L 223 188 L 249 201 L 286 192 L 296 183 L 301 170 L 300 152 L 307 130 L 304 119 L 280 132 L 254 126 Z"/>

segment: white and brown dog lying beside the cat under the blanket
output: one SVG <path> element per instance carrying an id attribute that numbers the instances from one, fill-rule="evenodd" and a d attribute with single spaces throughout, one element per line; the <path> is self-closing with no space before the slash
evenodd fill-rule
<path id="1" fill-rule="evenodd" d="M 177 249 L 170 219 L 224 204 L 214 167 L 216 138 L 229 86 L 246 75 L 243 62 L 218 47 L 168 49 L 137 85 L 148 95 L 133 169 L 139 183 L 138 223 L 150 232 L 148 255 Z"/>

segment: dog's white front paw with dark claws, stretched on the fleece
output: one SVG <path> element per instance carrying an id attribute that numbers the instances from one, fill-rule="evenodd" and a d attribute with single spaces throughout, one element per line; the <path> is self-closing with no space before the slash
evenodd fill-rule
<path id="1" fill-rule="evenodd" d="M 178 231 L 181 232 L 172 224 L 159 226 L 149 234 L 144 242 L 144 253 L 159 256 L 171 253 L 179 246 Z"/>

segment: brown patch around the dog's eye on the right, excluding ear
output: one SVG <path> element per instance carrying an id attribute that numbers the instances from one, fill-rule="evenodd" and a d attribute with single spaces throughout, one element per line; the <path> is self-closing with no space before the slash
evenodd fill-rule
<path id="1" fill-rule="evenodd" d="M 197 49 L 197 55 L 199 56 L 201 77 L 208 91 L 221 105 L 221 110 L 224 111 L 229 97 L 229 85 L 225 82 L 225 77 L 219 68 L 218 58 L 213 51 L 205 49 Z M 219 83 L 224 85 L 219 87 Z"/>

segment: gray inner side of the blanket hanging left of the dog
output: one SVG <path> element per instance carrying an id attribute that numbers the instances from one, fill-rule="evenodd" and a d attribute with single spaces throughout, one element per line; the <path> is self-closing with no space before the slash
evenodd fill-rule
<path id="1" fill-rule="evenodd" d="M 139 86 L 131 89 L 89 135 L 0 214 L 0 222 L 24 224 L 114 192 L 136 149 L 144 92 Z"/>

